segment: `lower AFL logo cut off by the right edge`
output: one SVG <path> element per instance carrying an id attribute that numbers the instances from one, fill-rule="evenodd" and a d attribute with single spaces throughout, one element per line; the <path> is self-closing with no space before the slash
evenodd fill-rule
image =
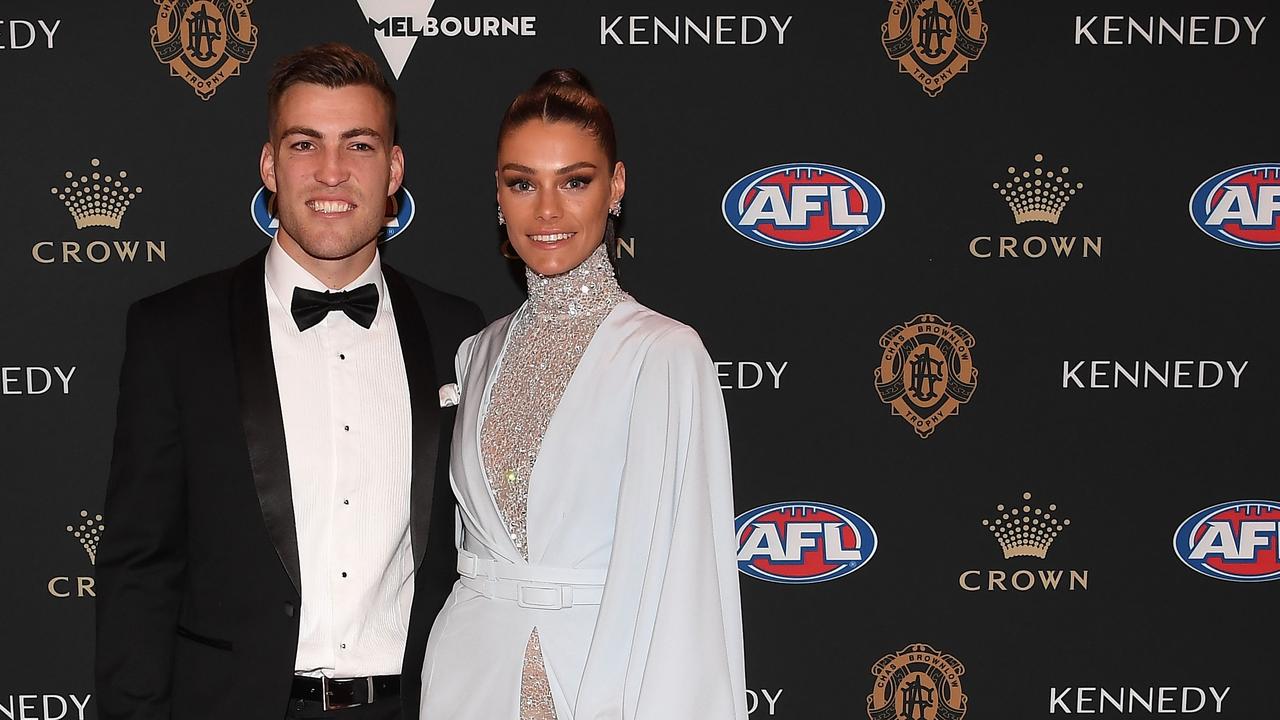
<path id="1" fill-rule="evenodd" d="M 1219 580 L 1280 579 L 1280 502 L 1239 500 L 1201 510 L 1178 527 L 1174 552 Z"/>

